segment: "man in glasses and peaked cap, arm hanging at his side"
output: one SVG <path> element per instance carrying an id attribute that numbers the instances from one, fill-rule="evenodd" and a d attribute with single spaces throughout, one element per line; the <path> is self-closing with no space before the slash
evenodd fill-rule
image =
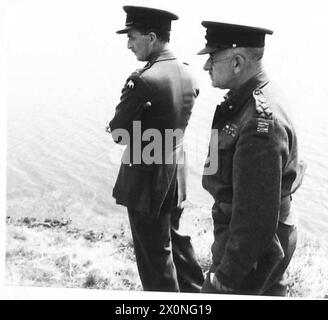
<path id="1" fill-rule="evenodd" d="M 264 71 L 268 29 L 203 21 L 216 107 L 203 187 L 213 196 L 212 265 L 202 292 L 286 295 L 296 246 L 291 195 L 302 182 L 288 103 Z"/>

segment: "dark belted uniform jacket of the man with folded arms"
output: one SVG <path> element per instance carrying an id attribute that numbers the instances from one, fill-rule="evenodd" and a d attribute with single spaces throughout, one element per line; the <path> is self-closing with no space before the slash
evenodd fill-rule
<path id="1" fill-rule="evenodd" d="M 189 68 L 165 50 L 127 79 L 115 116 L 109 123 L 114 141 L 120 142 L 116 129 L 125 129 L 131 136 L 113 189 L 118 204 L 157 216 L 163 206 L 169 210 L 175 205 L 173 201 L 179 204 L 185 199 L 185 167 L 177 164 L 184 157 L 183 134 L 174 140 L 171 150 L 164 147 L 165 130 L 179 129 L 184 133 L 199 92 Z M 145 163 L 143 158 L 133 161 L 140 143 L 139 137 L 134 136 L 135 121 L 140 121 L 141 135 L 151 128 L 161 133 L 162 161 Z M 149 143 L 142 141 L 141 153 Z M 166 161 L 168 155 L 174 161 Z"/>

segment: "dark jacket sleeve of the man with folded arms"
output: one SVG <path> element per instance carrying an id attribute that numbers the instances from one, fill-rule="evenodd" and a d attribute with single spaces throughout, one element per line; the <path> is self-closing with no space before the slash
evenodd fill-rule
<path id="1" fill-rule="evenodd" d="M 138 74 L 132 74 L 122 89 L 120 103 L 116 106 L 114 118 L 109 122 L 115 142 L 120 143 L 120 131 L 117 129 L 125 129 L 131 136 L 133 121 L 141 119 L 145 104 L 150 100 L 151 88 L 148 83 Z"/>

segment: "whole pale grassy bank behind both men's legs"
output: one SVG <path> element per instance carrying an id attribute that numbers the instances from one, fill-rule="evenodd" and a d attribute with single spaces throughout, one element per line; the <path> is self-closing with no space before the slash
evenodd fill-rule
<path id="1" fill-rule="evenodd" d="M 80 217 L 75 216 L 70 223 L 54 218 L 46 222 L 8 219 L 7 284 L 141 290 L 126 215 L 117 215 L 105 228 L 100 223 L 92 229 L 81 227 Z M 209 212 L 189 206 L 181 226 L 192 236 L 206 270 L 212 242 Z M 288 282 L 291 297 L 322 298 L 328 294 L 327 251 L 302 231 L 288 269 Z"/>

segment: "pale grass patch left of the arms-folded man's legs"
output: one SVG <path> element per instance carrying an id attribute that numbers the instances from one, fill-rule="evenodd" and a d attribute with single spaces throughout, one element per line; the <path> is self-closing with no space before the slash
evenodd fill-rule
<path id="1" fill-rule="evenodd" d="M 133 247 L 125 236 L 68 225 L 7 224 L 6 284 L 141 290 Z M 93 237 L 90 236 L 93 235 Z"/>

